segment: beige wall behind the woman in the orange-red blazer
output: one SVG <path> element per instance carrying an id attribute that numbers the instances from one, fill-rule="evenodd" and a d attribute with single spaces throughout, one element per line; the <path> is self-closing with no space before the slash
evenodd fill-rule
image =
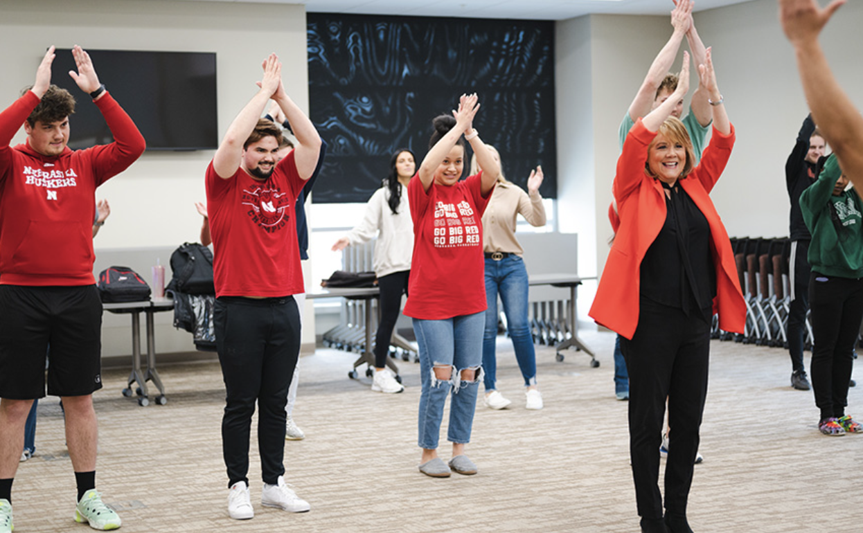
<path id="1" fill-rule="evenodd" d="M 784 162 L 808 109 L 776 2 L 710 9 L 696 13 L 695 21 L 704 43 L 714 47 L 717 79 L 737 129 L 734 154 L 712 194 L 716 207 L 729 235 L 788 235 Z M 822 36 L 830 63 L 858 108 L 863 106 L 863 69 L 855 34 L 861 23 L 863 4 L 849 3 Z M 671 36 L 671 25 L 668 16 L 584 16 L 558 22 L 556 32 L 560 219 L 565 230 L 579 234 L 579 272 L 593 275 L 602 273 L 608 255 L 607 209 L 620 119 Z M 679 68 L 678 55 L 672 70 Z M 578 78 L 587 72 L 589 90 Z M 593 198 L 595 208 L 585 205 L 584 197 Z M 591 209 L 592 216 L 564 215 Z M 595 262 L 585 264 L 589 254 Z M 585 289 L 579 298 L 582 312 L 591 297 L 590 285 Z"/>

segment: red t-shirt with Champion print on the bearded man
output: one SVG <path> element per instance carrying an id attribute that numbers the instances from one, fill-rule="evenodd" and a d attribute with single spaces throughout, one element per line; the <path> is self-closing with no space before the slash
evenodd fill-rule
<path id="1" fill-rule="evenodd" d="M 306 181 L 293 151 L 265 181 L 238 168 L 222 179 L 207 166 L 207 211 L 216 296 L 282 297 L 305 292 L 294 202 Z"/>

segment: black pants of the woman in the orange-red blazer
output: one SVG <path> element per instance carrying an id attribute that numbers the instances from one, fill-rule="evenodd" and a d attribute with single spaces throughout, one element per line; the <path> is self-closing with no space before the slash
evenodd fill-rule
<path id="1" fill-rule="evenodd" d="M 707 397 L 710 327 L 697 313 L 641 298 L 633 339 L 620 339 L 629 371 L 629 452 L 639 516 L 661 518 L 659 444 L 665 398 L 671 428 L 665 509 L 685 514 Z"/>

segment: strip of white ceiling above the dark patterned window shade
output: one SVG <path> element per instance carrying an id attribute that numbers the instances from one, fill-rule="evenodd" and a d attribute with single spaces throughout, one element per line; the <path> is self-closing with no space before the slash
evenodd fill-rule
<path id="1" fill-rule="evenodd" d="M 591 13 L 665 15 L 671 0 L 219 0 L 301 3 L 309 13 L 564 20 Z M 750 0 L 697 0 L 696 12 Z"/>

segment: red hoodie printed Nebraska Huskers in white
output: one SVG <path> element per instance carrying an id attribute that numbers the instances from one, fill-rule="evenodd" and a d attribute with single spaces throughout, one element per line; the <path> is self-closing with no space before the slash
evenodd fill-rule
<path id="1" fill-rule="evenodd" d="M 96 105 L 115 141 L 47 157 L 9 142 L 39 104 L 27 91 L 0 113 L 0 285 L 92 285 L 96 187 L 144 151 L 144 138 L 110 94 Z"/>

